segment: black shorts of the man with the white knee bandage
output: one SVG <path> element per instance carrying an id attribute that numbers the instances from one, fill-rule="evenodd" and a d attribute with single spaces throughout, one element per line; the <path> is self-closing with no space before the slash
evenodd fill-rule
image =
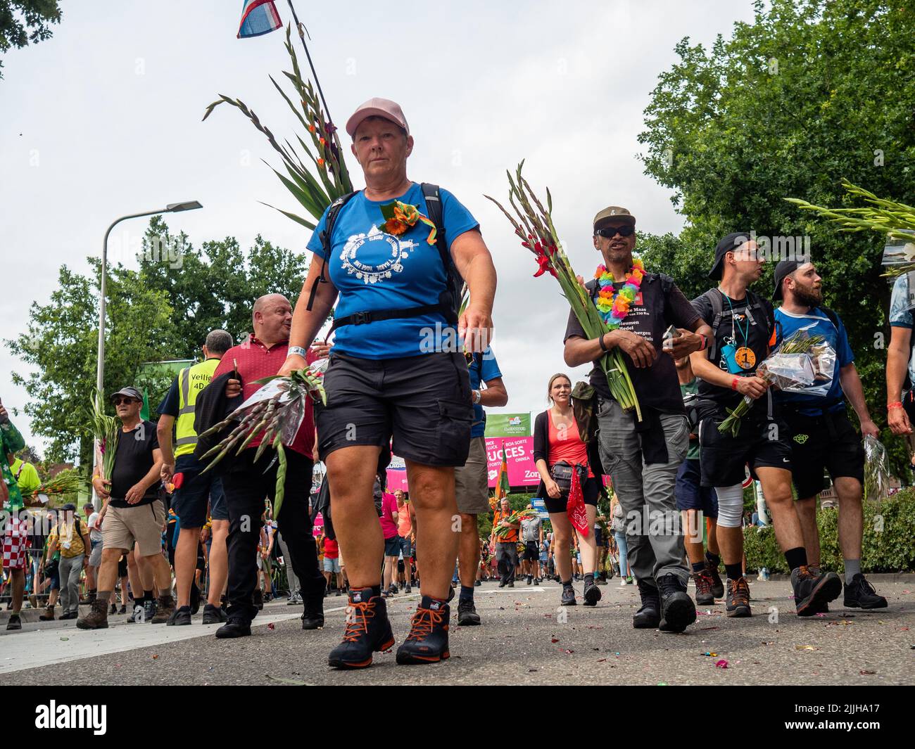
<path id="1" fill-rule="evenodd" d="M 703 487 L 733 487 L 757 468 L 791 470 L 788 425 L 780 418 L 767 419 L 748 413 L 741 419 L 737 436 L 718 431 L 727 412 L 711 412 L 699 422 L 699 463 Z"/>

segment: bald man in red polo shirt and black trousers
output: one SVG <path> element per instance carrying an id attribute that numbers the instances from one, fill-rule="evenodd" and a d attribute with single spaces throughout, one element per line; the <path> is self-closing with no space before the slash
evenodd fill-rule
<path id="1" fill-rule="evenodd" d="M 229 380 L 228 398 L 249 398 L 261 387 L 255 380 L 276 374 L 283 366 L 289 348 L 292 325 L 292 305 L 283 294 L 267 294 L 254 302 L 254 332 L 241 346 L 230 348 L 223 355 L 213 380 L 238 367 L 239 380 Z M 308 361 L 315 358 L 308 352 Z M 276 518 L 283 534 L 293 570 L 301 583 L 305 613 L 303 629 L 324 626 L 324 575 L 318 571 L 318 553 L 311 535 L 308 516 L 308 495 L 311 492 L 312 449 L 315 443 L 315 421 L 311 403 L 307 403 L 305 419 L 292 444 L 286 446 L 285 497 Z M 257 579 L 257 544 L 264 512 L 264 497 L 274 498 L 276 471 L 274 451 L 266 450 L 257 463 L 254 452 L 260 438 L 255 437 L 248 448 L 222 477 L 229 508 L 229 620 L 216 631 L 216 637 L 245 637 L 251 634 L 251 621 L 257 614 L 253 605 Z"/>

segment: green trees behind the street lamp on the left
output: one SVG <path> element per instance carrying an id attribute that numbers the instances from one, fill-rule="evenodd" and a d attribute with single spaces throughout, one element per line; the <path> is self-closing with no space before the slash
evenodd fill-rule
<path id="1" fill-rule="evenodd" d="M 127 384 L 146 388 L 153 418 L 170 382 L 141 374 L 144 362 L 199 357 L 207 333 L 217 327 L 240 341 L 252 328 L 254 299 L 278 292 L 295 304 L 307 273 L 301 256 L 259 236 L 245 252 L 231 237 L 195 250 L 182 235 L 178 257 L 161 251 L 169 239 L 165 222 L 153 219 L 138 270 L 121 263 L 108 267 L 104 391 Z M 95 387 L 100 265 L 90 262 L 88 275 L 62 266 L 48 303 L 32 304 L 27 332 L 5 342 L 34 370 L 14 373 L 13 381 L 26 388 L 32 432 L 48 439 L 46 458 L 52 462 L 86 465 L 92 459 L 88 408 Z"/>

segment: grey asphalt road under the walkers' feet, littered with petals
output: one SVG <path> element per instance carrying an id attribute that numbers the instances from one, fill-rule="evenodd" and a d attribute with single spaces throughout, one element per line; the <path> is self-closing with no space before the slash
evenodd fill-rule
<path id="1" fill-rule="evenodd" d="M 864 613 L 834 604 L 829 614 L 801 619 L 788 582 L 754 581 L 752 618 L 727 619 L 718 604 L 705 607 L 686 633 L 671 635 L 632 628 L 634 585 L 620 588 L 613 580 L 602 586 L 596 608 L 561 609 L 555 583 L 484 583 L 477 588 L 483 626 L 452 626 L 449 660 L 404 667 L 391 652 L 360 671 L 327 666 L 343 631 L 344 598 L 326 599 L 327 626 L 312 632 L 289 618 L 297 607 L 271 603 L 255 624 L 274 620 L 273 627 L 254 626 L 253 637 L 237 640 L 212 637 L 216 626 L 202 626 L 199 615 L 189 627 L 126 625 L 114 616 L 109 630 L 92 633 L 55 622 L 0 633 L 0 677 L 36 685 L 913 684 L 915 582 L 876 584 L 888 609 Z M 576 589 L 580 596 L 580 584 Z M 417 598 L 389 599 L 398 644 Z M 92 647 L 115 647 L 116 639 L 120 652 L 86 657 Z"/>

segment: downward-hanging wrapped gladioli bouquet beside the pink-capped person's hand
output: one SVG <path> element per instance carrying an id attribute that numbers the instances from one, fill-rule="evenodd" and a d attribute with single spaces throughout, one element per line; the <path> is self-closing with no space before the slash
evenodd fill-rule
<path id="1" fill-rule="evenodd" d="M 274 518 L 280 514 L 283 504 L 286 459 L 284 445 L 292 444 L 296 433 L 305 419 L 306 399 L 326 403 L 328 398 L 321 384 L 322 374 L 311 368 L 296 369 L 286 377 L 265 377 L 263 380 L 254 380 L 263 385 L 257 392 L 242 403 L 224 421 L 214 424 L 199 437 L 206 437 L 212 433 L 221 432 L 231 423 L 238 425 L 219 444 L 209 452 L 202 455 L 201 462 L 212 457 L 212 461 L 203 469 L 206 473 L 232 450 L 235 455 L 241 455 L 255 437 L 260 437 L 260 444 L 254 454 L 254 461 L 264 455 L 267 447 L 276 451 L 275 461 L 279 461 L 276 471 L 276 495 L 274 499 Z M 274 465 L 271 461 L 270 466 Z"/>

